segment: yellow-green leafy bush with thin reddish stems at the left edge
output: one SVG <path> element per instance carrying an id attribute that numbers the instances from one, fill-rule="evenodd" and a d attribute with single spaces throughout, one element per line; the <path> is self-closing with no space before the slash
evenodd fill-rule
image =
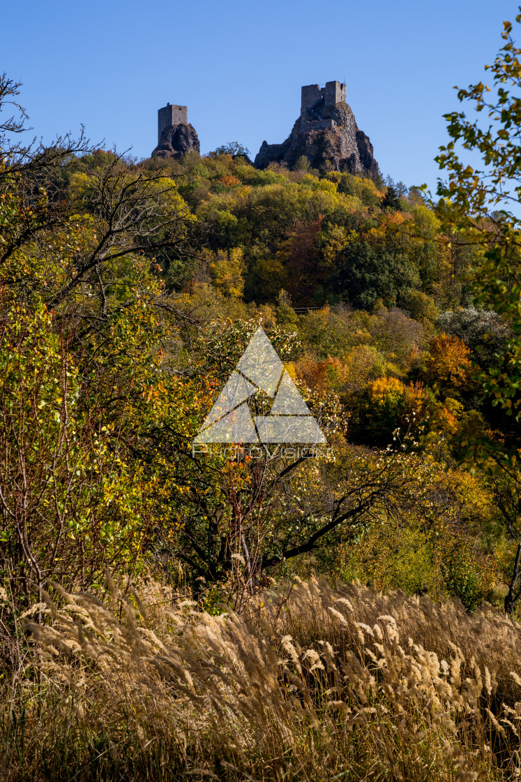
<path id="1" fill-rule="evenodd" d="M 130 432 L 148 411 L 145 378 L 127 351 L 148 328 L 143 316 L 127 311 L 124 323 L 112 325 L 125 353 L 102 349 L 98 371 L 88 371 L 67 352 L 45 307 L 3 302 L 0 558 L 2 576 L 26 600 L 48 579 L 84 588 L 102 565 L 141 566 L 154 492 L 133 453 Z"/>

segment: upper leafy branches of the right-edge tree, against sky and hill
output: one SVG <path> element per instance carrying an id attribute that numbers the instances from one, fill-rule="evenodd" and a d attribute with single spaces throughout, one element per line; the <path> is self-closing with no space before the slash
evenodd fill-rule
<path id="1" fill-rule="evenodd" d="M 521 13 L 516 16 L 521 22 Z M 439 181 L 437 194 L 441 201 L 437 212 L 445 225 L 480 242 L 484 260 L 473 278 L 476 301 L 501 314 L 512 329 L 512 339 L 501 348 L 499 366 L 488 368 L 484 389 L 507 414 L 519 418 L 519 383 L 521 378 L 521 303 L 519 292 L 519 214 L 512 210 L 519 203 L 519 138 L 516 128 L 521 121 L 521 50 L 512 38 L 512 23 L 505 22 L 504 45 L 491 72 L 493 87 L 482 82 L 458 92 L 460 101 L 468 100 L 473 108 L 485 111 L 491 120 L 480 127 L 479 120 L 467 120 L 465 113 L 445 115 L 451 142 L 441 147 L 437 158 L 441 169 L 448 171 L 448 181 Z M 491 98 L 488 93 L 492 93 Z M 477 152 L 481 168 L 473 168 L 459 159 L 458 142 L 463 149 Z M 491 217 L 491 214 L 494 217 Z"/>

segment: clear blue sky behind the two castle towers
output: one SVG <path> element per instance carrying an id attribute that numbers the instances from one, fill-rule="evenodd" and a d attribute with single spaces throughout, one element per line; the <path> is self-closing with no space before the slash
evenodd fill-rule
<path id="1" fill-rule="evenodd" d="M 157 109 L 188 106 L 202 152 L 282 142 L 302 84 L 338 79 L 384 174 L 434 184 L 455 84 L 484 79 L 505 0 L 49 0 L 4 4 L 0 70 L 37 135 L 77 132 L 148 157 Z M 521 30 L 516 30 L 521 41 Z"/>

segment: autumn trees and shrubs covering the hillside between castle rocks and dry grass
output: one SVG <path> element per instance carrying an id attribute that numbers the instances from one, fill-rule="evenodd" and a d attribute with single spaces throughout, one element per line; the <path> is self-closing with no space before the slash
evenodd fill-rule
<path id="1" fill-rule="evenodd" d="M 479 246 L 449 246 L 414 192 L 226 152 L 159 168 L 64 155 L 37 170 L 30 210 L 26 172 L 5 168 L 2 201 L 5 572 L 24 608 L 48 579 L 87 589 L 102 565 L 130 578 L 165 561 L 213 601 L 244 588 L 244 551 L 248 589 L 318 568 L 501 599 L 494 483 L 459 460 L 467 436 L 513 436 L 473 368 L 508 327 L 454 274 Z M 192 458 L 259 322 L 334 457 L 262 475 Z"/>

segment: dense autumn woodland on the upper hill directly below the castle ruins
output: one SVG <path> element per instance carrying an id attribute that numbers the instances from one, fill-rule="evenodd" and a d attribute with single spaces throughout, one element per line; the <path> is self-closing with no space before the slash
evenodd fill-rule
<path id="1" fill-rule="evenodd" d="M 305 158 L 299 165 L 259 171 L 224 152 L 162 163 L 198 218 L 206 282 L 257 304 L 277 303 L 283 290 L 296 307 L 370 310 L 381 300 L 410 310 L 412 291 L 441 311 L 469 303 L 459 275 L 479 265 L 480 253 L 439 241 L 440 223 L 419 191 L 405 197 L 399 183 L 399 197 L 380 177 L 309 170 Z M 167 278 L 180 282 L 175 270 Z M 428 300 L 416 301 L 429 310 Z"/>

